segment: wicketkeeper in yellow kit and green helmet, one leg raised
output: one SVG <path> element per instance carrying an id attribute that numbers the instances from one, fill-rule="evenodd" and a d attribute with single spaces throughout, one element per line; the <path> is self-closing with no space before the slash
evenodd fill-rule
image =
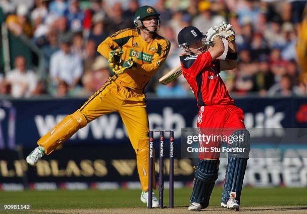
<path id="1" fill-rule="evenodd" d="M 154 8 L 143 6 L 135 13 L 135 29 L 120 30 L 98 46 L 98 52 L 108 59 L 115 75 L 80 109 L 38 140 L 39 146 L 27 157 L 30 165 L 35 165 L 43 155 L 49 155 L 92 120 L 118 112 L 136 153 L 141 201 L 148 203 L 149 128 L 144 88 L 165 62 L 171 47 L 167 39 L 157 34 L 161 24 L 159 16 Z M 154 178 L 154 173 L 152 175 Z M 152 195 L 152 207 L 159 207 L 155 194 Z"/>

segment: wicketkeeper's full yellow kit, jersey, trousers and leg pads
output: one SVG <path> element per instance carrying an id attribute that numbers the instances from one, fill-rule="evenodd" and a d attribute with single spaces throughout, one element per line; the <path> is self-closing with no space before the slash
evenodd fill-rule
<path id="1" fill-rule="evenodd" d="M 38 144 L 50 154 L 58 145 L 71 137 L 79 128 L 108 113 L 118 112 L 126 126 L 129 139 L 136 153 L 137 169 L 143 191 L 148 190 L 148 117 L 146 112 L 144 88 L 170 51 L 170 42 L 154 34 L 146 42 L 138 29 L 123 29 L 103 41 L 98 52 L 108 58 L 110 51 L 119 48 L 123 51 L 122 60 L 136 58 L 136 69 L 110 77 L 75 113 L 68 115 Z"/>

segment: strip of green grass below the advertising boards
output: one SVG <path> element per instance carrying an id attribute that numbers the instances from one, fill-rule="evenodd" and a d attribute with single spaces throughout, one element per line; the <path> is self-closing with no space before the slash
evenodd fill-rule
<path id="1" fill-rule="evenodd" d="M 26 190 L 0 192 L 2 204 L 31 204 L 35 213 L 185 213 L 189 205 L 191 188 L 174 191 L 176 209 L 145 209 L 140 201 L 140 190 Z M 158 192 L 155 191 L 157 196 Z M 221 187 L 215 187 L 206 213 L 230 213 L 220 209 Z M 164 205 L 169 205 L 168 189 L 164 191 Z M 307 188 L 251 188 L 245 187 L 241 195 L 241 211 L 250 213 L 306 213 Z M 17 211 L 16 213 L 21 213 Z"/>

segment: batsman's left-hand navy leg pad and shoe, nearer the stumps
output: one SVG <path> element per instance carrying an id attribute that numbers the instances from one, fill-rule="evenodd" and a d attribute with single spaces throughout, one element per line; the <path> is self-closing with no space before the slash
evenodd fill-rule
<path id="1" fill-rule="evenodd" d="M 219 163 L 218 159 L 202 159 L 198 162 L 189 211 L 199 211 L 209 205 L 210 195 L 218 178 Z"/>

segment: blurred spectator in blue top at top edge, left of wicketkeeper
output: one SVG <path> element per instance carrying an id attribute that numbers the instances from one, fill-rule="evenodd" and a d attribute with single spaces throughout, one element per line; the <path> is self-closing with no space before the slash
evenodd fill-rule
<path id="1" fill-rule="evenodd" d="M 84 12 L 79 7 L 79 0 L 69 0 L 69 7 L 64 11 L 70 31 L 80 32 L 83 30 Z"/>

